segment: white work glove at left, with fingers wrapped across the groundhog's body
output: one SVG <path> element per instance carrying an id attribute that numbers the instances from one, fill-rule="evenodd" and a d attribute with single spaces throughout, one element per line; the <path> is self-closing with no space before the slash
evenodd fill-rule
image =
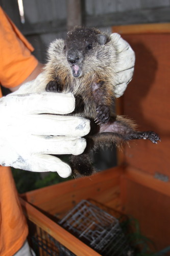
<path id="1" fill-rule="evenodd" d="M 57 172 L 66 178 L 71 174 L 70 166 L 50 154 L 83 153 L 86 141 L 80 137 L 89 133 L 90 122 L 62 116 L 74 111 L 74 96 L 45 92 L 43 80 L 41 73 L 0 99 L 0 164 L 33 172 Z"/>

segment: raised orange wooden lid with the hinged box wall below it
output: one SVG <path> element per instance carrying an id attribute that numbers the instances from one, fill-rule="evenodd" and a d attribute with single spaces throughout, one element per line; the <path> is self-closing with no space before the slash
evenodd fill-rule
<path id="1" fill-rule="evenodd" d="M 112 29 L 122 33 L 136 54 L 134 77 L 121 100 L 122 114 L 135 120 L 140 131 L 153 130 L 161 138 L 158 144 L 135 140 L 125 147 L 124 210 L 160 250 L 170 241 L 170 24 Z"/>

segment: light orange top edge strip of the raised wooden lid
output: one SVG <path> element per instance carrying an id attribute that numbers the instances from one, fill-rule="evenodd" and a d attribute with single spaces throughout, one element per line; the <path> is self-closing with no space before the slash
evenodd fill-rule
<path id="1" fill-rule="evenodd" d="M 113 26 L 113 33 L 119 34 L 152 34 L 152 33 L 170 33 L 170 23 L 153 23 L 153 24 L 135 24 Z"/>

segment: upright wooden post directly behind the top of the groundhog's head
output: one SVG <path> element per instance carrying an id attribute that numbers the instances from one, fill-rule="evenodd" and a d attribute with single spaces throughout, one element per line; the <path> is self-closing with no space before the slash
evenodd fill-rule
<path id="1" fill-rule="evenodd" d="M 82 25 L 82 1 L 67 0 L 67 31 Z"/>

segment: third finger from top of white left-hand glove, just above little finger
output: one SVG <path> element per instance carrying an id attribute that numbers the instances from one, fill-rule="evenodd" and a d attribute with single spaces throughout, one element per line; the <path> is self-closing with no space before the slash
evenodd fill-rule
<path id="1" fill-rule="evenodd" d="M 34 136 L 33 151 L 36 154 L 64 155 L 82 154 L 86 147 L 84 138 L 65 136 Z"/>

